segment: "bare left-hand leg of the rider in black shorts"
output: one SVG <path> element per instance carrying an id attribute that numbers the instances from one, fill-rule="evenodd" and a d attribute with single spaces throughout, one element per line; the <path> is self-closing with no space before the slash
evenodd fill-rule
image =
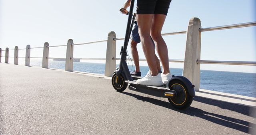
<path id="1" fill-rule="evenodd" d="M 153 14 L 137 14 L 137 23 L 139 27 L 138 31 L 140 34 L 142 49 L 146 57 L 151 75 L 156 76 L 158 75 L 158 69 L 156 66 L 155 55 L 152 55 L 152 54 L 155 54 L 155 50 L 154 50 L 154 45 L 152 43 L 152 40 L 150 38 L 152 18 L 153 18 Z"/>

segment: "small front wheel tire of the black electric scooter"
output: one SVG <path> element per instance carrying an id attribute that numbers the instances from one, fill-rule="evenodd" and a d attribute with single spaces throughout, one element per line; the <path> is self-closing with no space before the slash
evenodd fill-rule
<path id="1" fill-rule="evenodd" d="M 127 87 L 127 83 L 124 82 L 124 77 L 122 75 L 120 75 L 119 78 L 119 83 L 116 84 L 116 73 L 113 74 L 112 79 L 111 79 L 112 85 L 114 87 L 114 89 L 116 89 L 116 91 L 124 91 Z"/>

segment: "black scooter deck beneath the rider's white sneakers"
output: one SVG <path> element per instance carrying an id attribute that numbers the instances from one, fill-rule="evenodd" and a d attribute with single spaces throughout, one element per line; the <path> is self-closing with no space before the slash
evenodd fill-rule
<path id="1" fill-rule="evenodd" d="M 150 85 L 140 85 L 136 81 L 125 81 L 129 83 L 128 86 L 130 90 L 137 91 L 140 93 L 145 93 L 148 95 L 153 95 L 156 97 L 175 97 L 177 93 L 165 86 L 150 86 Z"/>

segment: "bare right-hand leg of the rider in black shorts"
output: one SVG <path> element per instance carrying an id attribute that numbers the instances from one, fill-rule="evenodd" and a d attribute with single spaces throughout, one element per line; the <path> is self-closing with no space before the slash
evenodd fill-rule
<path id="1" fill-rule="evenodd" d="M 164 25 L 166 15 L 164 14 L 154 14 L 152 20 L 152 27 L 151 27 L 151 37 L 156 43 L 156 51 L 160 57 L 163 67 L 163 73 L 167 74 L 170 73 L 169 70 L 169 58 L 168 58 L 168 50 L 164 39 L 161 36 L 162 27 Z"/>

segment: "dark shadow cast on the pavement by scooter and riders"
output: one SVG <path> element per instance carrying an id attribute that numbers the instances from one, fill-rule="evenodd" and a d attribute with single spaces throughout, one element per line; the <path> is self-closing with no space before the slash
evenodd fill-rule
<path id="1" fill-rule="evenodd" d="M 174 107 L 172 107 L 172 105 L 170 105 L 169 102 L 165 102 L 165 101 L 150 98 L 150 97 L 143 97 L 143 96 L 136 95 L 133 93 L 128 93 L 128 92 L 120 92 L 120 93 L 130 95 L 130 96 L 135 97 L 138 100 L 146 101 L 146 102 L 152 103 L 154 105 L 166 107 L 168 109 L 172 109 L 172 110 L 178 111 L 180 113 L 184 113 L 184 114 L 194 116 L 194 117 L 200 117 L 200 118 L 210 121 L 212 123 L 216 123 L 216 124 L 219 124 L 219 125 L 222 125 L 225 127 L 236 129 L 236 130 L 242 131 L 244 133 L 249 133 L 249 131 L 251 132 L 251 131 L 256 130 L 256 129 L 254 129 L 254 127 L 256 127 L 256 125 L 254 123 L 250 123 L 250 122 L 244 121 L 242 119 L 236 119 L 236 118 L 227 117 L 224 115 L 206 112 L 206 111 L 203 111 L 202 109 L 198 109 L 198 108 L 191 107 L 191 106 L 188 107 L 187 109 L 179 110 L 179 109 L 175 109 Z M 194 97 L 194 101 L 218 106 L 222 109 L 228 109 L 230 111 L 235 111 L 235 112 L 241 113 L 243 115 L 247 115 L 247 116 L 249 116 L 249 114 L 250 114 L 250 107 L 243 106 L 243 105 L 237 105 L 234 103 L 226 103 L 223 101 L 206 99 L 204 97 Z"/>

